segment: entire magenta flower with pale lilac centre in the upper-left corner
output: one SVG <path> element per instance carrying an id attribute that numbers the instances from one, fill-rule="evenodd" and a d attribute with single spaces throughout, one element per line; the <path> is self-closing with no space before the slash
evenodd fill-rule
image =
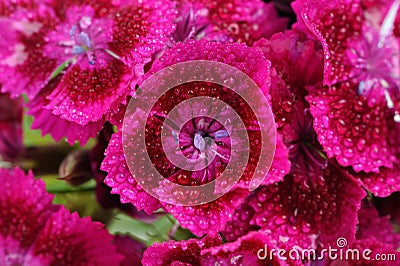
<path id="1" fill-rule="evenodd" d="M 85 142 L 133 94 L 144 65 L 172 32 L 174 14 L 171 2 L 157 0 L 21 8 L 9 15 L 18 27 L 4 41 L 21 48 L 0 64 L 2 90 L 34 99 L 34 126 L 44 133 Z"/>

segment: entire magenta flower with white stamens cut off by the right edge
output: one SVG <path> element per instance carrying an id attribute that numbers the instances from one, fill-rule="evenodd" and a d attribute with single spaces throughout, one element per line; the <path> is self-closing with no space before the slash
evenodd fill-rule
<path id="1" fill-rule="evenodd" d="M 399 2 L 304 2 L 302 17 L 325 53 L 324 86 L 307 98 L 318 140 L 368 190 L 387 196 L 400 188 Z"/>

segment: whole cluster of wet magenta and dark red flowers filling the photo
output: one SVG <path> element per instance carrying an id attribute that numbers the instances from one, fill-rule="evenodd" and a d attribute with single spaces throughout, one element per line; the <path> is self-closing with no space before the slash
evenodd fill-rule
<path id="1" fill-rule="evenodd" d="M 0 169 L 0 265 L 398 265 L 324 257 L 324 250 L 368 249 L 371 258 L 400 260 L 400 0 L 290 2 L 2 1 L 0 167 L 27 152 L 25 107 L 32 129 L 56 141 L 83 146 L 97 137 L 91 151 L 64 161 L 63 179 L 80 185 L 93 176 L 103 208 L 146 222 L 170 215 L 190 238 L 171 232 L 146 250 L 129 237 L 112 242 L 99 223 L 53 205 L 31 172 Z M 199 63 L 188 69 L 190 82 L 164 91 L 146 113 L 143 95 L 185 80 L 172 69 L 192 61 L 243 76 Z M 207 73 L 224 81 L 200 80 Z M 159 83 L 146 84 L 154 77 Z M 243 96 L 247 80 L 259 94 Z M 199 107 L 196 97 L 230 109 L 210 117 L 204 109 L 213 105 Z M 183 103 L 190 108 L 179 111 Z M 240 121 L 223 120 L 229 112 Z M 267 113 L 271 147 L 260 122 Z M 144 134 L 131 133 L 142 124 Z M 236 171 L 231 161 L 243 147 L 245 165 Z M 168 152 L 178 150 L 203 167 L 174 163 Z M 156 192 L 146 188 L 156 177 L 138 154 L 163 180 Z M 260 171 L 263 179 L 249 189 Z M 226 175 L 237 177 L 227 191 Z M 156 196 L 196 201 L 204 195 L 191 189 L 207 184 L 218 197 L 201 204 Z M 316 256 L 262 259 L 266 247 Z"/>

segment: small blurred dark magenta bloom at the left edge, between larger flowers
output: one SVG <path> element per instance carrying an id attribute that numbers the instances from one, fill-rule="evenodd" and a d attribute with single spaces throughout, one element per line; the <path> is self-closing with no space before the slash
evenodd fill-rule
<path id="1" fill-rule="evenodd" d="M 23 151 L 22 100 L 0 94 L 0 161 L 12 162 Z"/>

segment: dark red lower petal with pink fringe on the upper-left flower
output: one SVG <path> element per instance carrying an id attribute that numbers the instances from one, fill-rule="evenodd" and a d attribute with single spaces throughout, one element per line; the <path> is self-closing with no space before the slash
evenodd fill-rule
<path id="1" fill-rule="evenodd" d="M 98 122 L 120 103 L 130 91 L 131 72 L 110 55 L 96 55 L 95 65 L 81 60 L 66 71 L 46 96 L 46 109 L 68 121 L 87 125 Z"/>

